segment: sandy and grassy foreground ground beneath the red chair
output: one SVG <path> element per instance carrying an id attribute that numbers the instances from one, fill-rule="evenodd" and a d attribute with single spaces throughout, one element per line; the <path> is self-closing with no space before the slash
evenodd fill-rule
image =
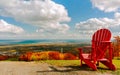
<path id="1" fill-rule="evenodd" d="M 97 71 L 81 67 L 79 60 L 44 60 L 34 62 L 1 61 L 0 75 L 120 75 L 120 60 L 113 60 L 116 71 L 100 64 Z"/>

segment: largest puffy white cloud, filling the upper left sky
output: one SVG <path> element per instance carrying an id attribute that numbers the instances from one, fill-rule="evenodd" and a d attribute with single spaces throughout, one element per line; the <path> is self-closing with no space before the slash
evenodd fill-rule
<path id="1" fill-rule="evenodd" d="M 4 0 L 0 1 L 0 15 L 13 17 L 17 21 L 36 25 L 44 31 L 68 30 L 70 21 L 67 10 L 63 5 L 52 0 Z"/>

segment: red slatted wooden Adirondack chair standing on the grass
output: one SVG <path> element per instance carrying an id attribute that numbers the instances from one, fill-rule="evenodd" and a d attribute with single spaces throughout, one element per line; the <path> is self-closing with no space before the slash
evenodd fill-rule
<path id="1" fill-rule="evenodd" d="M 116 70 L 112 63 L 112 45 L 110 42 L 111 32 L 108 29 L 99 29 L 92 36 L 91 53 L 83 53 L 82 48 L 80 51 L 81 66 L 84 62 L 93 70 L 97 70 L 99 62 L 107 66 L 110 70 Z M 106 52 L 108 57 L 106 57 Z"/>

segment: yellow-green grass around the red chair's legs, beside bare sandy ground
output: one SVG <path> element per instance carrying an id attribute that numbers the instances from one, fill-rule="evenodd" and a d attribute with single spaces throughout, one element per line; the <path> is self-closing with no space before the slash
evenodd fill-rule
<path id="1" fill-rule="evenodd" d="M 48 64 L 55 65 L 55 66 L 64 66 L 64 67 L 72 66 L 78 70 L 92 71 L 90 68 L 80 67 L 80 60 L 44 60 L 44 61 L 39 61 L 39 62 L 48 63 Z M 111 71 L 106 66 L 100 63 L 98 70 L 96 72 L 120 75 L 120 64 L 119 64 L 120 60 L 113 60 L 113 63 L 115 64 L 117 68 L 116 71 Z"/>

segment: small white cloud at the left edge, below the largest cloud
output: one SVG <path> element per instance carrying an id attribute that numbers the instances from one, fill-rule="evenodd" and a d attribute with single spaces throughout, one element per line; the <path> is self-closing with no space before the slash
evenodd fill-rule
<path id="1" fill-rule="evenodd" d="M 4 20 L 0 20 L 0 33 L 22 33 L 24 30 L 21 27 L 9 24 Z"/>

